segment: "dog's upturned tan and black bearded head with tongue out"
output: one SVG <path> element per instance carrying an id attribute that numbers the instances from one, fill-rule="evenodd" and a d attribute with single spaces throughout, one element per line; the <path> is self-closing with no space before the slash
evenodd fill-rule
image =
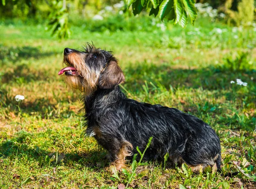
<path id="1" fill-rule="evenodd" d="M 111 89 L 125 80 L 111 52 L 96 49 L 89 43 L 84 51 L 65 48 L 64 63 L 67 67 L 58 74 L 65 73 L 67 86 L 79 89 L 87 95 L 98 88 Z"/>

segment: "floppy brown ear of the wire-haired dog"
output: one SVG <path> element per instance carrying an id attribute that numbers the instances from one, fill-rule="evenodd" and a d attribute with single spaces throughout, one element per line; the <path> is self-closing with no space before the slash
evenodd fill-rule
<path id="1" fill-rule="evenodd" d="M 99 76 L 99 87 L 111 89 L 125 81 L 125 76 L 116 60 L 111 60 Z"/>

